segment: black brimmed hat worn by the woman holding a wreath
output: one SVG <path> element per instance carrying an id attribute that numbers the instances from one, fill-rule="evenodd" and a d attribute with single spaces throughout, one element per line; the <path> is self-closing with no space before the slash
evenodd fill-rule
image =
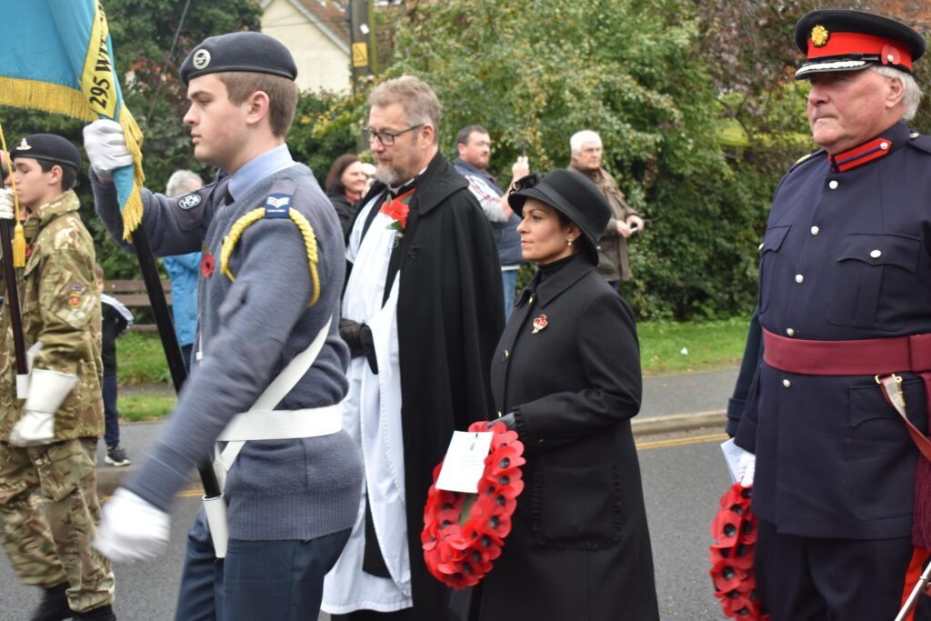
<path id="1" fill-rule="evenodd" d="M 587 258 L 598 264 L 598 240 L 611 219 L 611 206 L 594 183 L 567 169 L 555 169 L 542 179 L 538 174 L 527 175 L 514 182 L 507 203 L 523 217 L 528 198 L 546 203 L 578 226 Z"/>

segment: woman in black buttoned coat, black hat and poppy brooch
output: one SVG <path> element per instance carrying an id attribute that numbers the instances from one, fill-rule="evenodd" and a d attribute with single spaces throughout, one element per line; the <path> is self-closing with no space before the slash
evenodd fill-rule
<path id="1" fill-rule="evenodd" d="M 492 358 L 497 415 L 518 431 L 525 487 L 502 555 L 476 589 L 479 621 L 659 618 L 630 419 L 640 347 L 630 308 L 595 272 L 610 208 L 558 169 L 508 202 L 539 271 Z"/>

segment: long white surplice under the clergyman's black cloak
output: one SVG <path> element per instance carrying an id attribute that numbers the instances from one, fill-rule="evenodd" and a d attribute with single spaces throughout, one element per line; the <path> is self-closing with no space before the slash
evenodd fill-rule
<path id="1" fill-rule="evenodd" d="M 362 208 L 346 249 L 353 270 L 344 294 L 343 317 L 369 325 L 379 372 L 372 373 L 364 357 L 354 358 L 347 371 L 349 392 L 342 404 L 343 428 L 359 444 L 365 480 L 349 542 L 324 580 L 321 608 L 330 614 L 361 609 L 388 613 L 413 605 L 400 419 L 398 276 L 388 300 L 382 304 L 396 236 L 388 228 L 391 218 L 384 213 L 376 215 L 362 238 L 362 227 L 371 209 L 379 209 L 384 200 L 384 195 L 378 196 Z M 372 522 L 391 578 L 362 571 L 365 504 L 370 500 Z"/>

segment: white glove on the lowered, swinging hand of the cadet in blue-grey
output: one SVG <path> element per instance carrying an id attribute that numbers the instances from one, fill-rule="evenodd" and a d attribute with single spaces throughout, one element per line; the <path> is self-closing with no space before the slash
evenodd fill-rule
<path id="1" fill-rule="evenodd" d="M 103 506 L 94 547 L 110 560 L 152 560 L 169 546 L 169 514 L 119 488 Z"/>

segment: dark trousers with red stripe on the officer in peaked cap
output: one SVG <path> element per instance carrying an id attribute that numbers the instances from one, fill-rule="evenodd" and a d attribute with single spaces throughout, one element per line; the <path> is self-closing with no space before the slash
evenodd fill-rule
<path id="1" fill-rule="evenodd" d="M 756 576 L 772 621 L 892 621 L 929 552 L 900 539 L 827 539 L 776 532 L 760 520 Z M 931 621 L 921 597 L 914 621 Z"/>

